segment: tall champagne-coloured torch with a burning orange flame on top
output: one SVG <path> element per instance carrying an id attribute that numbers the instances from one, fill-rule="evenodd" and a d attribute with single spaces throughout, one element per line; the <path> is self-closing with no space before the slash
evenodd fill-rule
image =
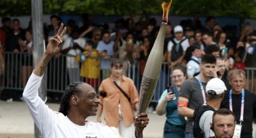
<path id="1" fill-rule="evenodd" d="M 157 38 L 155 39 L 154 46 L 149 54 L 145 70 L 143 72 L 142 83 L 140 85 L 138 114 L 146 112 L 155 92 L 155 87 L 161 70 L 161 64 L 163 62 L 164 36 L 171 4 L 172 0 L 161 4 L 163 8 L 163 22 L 161 23 L 160 30 L 157 34 Z"/>

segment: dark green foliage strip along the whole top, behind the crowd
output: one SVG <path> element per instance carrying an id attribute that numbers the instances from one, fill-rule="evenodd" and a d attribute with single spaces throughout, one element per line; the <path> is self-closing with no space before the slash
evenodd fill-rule
<path id="1" fill-rule="evenodd" d="M 33 1 L 33 0 L 31 0 Z M 2 16 L 20 16 L 31 14 L 30 0 L 0 0 Z M 97 14 L 128 15 L 162 14 L 161 2 L 164 0 L 42 0 L 45 14 Z M 167 1 L 167 0 L 166 0 Z M 255 0 L 172 0 L 170 14 L 193 16 L 236 16 L 256 17 Z"/>

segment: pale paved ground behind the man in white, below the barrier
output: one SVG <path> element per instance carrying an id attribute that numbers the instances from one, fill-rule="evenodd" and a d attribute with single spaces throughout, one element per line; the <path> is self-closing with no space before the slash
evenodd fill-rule
<path id="1" fill-rule="evenodd" d="M 48 104 L 53 110 L 58 110 L 58 104 Z M 150 122 L 145 128 L 145 137 L 162 137 L 165 116 L 149 114 Z M 89 118 L 96 121 L 95 116 Z M 103 119 L 102 119 L 103 120 Z M 8 103 L 0 100 L 0 138 L 32 138 L 34 137 L 34 122 L 25 103 L 13 101 Z"/>

